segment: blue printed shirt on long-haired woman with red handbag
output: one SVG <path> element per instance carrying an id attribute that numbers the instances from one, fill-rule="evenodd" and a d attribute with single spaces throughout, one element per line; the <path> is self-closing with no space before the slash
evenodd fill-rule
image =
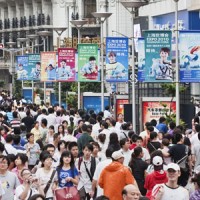
<path id="1" fill-rule="evenodd" d="M 78 170 L 75 167 L 73 169 L 68 169 L 68 170 L 63 170 L 62 168 L 57 169 L 57 172 L 58 172 L 58 185 L 61 188 L 72 187 L 73 183 L 71 181 L 66 182 L 65 179 L 67 177 L 75 178 L 75 176 L 78 176 Z"/>

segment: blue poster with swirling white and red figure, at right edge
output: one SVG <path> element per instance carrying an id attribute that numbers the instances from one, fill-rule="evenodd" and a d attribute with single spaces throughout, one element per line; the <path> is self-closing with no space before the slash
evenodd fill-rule
<path id="1" fill-rule="evenodd" d="M 179 32 L 180 82 L 200 82 L 200 31 Z"/>

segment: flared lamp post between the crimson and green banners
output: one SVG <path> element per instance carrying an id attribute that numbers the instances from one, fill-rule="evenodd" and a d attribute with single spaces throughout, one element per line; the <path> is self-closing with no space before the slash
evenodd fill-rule
<path id="1" fill-rule="evenodd" d="M 80 30 L 88 22 L 87 20 L 72 20 L 70 21 L 78 30 L 78 44 L 80 43 Z M 81 107 L 81 83 L 78 81 L 78 109 Z"/>

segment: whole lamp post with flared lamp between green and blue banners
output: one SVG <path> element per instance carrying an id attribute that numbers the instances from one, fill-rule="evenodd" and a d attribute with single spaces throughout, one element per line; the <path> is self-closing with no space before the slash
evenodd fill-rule
<path id="1" fill-rule="evenodd" d="M 104 61 L 103 61 L 103 23 L 112 15 L 109 12 L 93 12 L 92 15 L 101 21 L 101 111 L 104 111 Z"/>

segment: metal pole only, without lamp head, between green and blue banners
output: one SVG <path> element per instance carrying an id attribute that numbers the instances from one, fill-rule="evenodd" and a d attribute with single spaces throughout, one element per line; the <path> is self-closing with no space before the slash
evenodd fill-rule
<path id="1" fill-rule="evenodd" d="M 101 20 L 101 111 L 104 111 L 103 20 Z"/>

